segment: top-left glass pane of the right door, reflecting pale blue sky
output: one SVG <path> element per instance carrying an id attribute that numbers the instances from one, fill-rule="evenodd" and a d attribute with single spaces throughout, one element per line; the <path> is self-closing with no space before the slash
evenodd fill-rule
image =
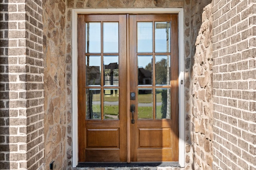
<path id="1" fill-rule="evenodd" d="M 153 23 L 138 22 L 137 23 L 137 50 L 138 53 L 153 52 Z"/>

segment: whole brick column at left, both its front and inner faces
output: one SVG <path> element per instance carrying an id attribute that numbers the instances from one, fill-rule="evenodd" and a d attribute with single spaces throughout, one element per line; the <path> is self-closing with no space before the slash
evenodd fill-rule
<path id="1" fill-rule="evenodd" d="M 0 169 L 36 169 L 44 163 L 42 3 L 0 2 Z"/>

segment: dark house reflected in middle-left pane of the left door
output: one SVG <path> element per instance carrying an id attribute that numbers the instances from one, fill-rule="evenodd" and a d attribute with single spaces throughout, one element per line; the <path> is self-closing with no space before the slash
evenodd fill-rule
<path id="1" fill-rule="evenodd" d="M 87 66 L 89 84 L 100 84 L 100 66 Z"/>

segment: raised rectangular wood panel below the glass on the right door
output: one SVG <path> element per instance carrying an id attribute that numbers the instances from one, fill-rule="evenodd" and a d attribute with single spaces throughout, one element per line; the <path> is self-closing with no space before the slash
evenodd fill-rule
<path id="1" fill-rule="evenodd" d="M 162 148 L 171 147 L 170 128 L 138 129 L 139 147 Z"/>

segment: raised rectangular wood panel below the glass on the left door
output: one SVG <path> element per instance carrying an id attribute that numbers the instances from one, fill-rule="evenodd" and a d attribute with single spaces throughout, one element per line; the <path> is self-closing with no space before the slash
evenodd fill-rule
<path id="1" fill-rule="evenodd" d="M 86 148 L 119 148 L 119 129 L 86 129 Z"/>

